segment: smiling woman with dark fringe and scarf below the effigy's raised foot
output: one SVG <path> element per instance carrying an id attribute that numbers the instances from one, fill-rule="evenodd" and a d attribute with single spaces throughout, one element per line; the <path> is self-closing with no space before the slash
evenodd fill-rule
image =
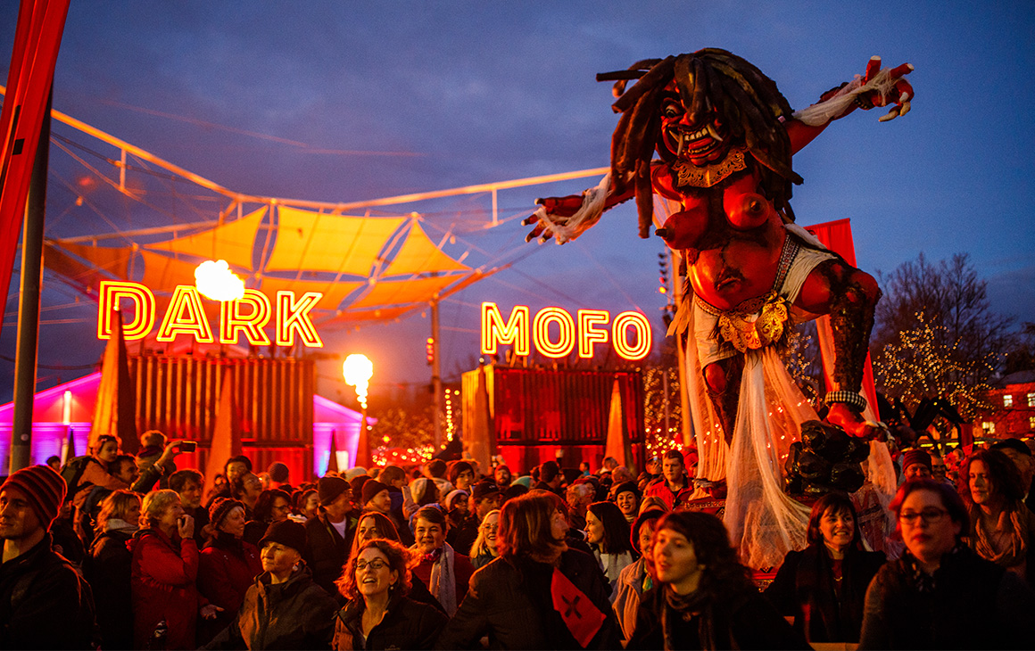
<path id="1" fill-rule="evenodd" d="M 765 595 L 808 642 L 859 642 L 866 588 L 885 562 L 865 552 L 852 500 L 828 493 L 812 505 L 808 546 L 788 552 Z"/>

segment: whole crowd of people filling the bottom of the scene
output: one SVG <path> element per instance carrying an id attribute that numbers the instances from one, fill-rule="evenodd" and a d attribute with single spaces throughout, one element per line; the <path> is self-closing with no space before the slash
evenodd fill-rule
<path id="1" fill-rule="evenodd" d="M 0 648 L 1022 648 L 1035 625 L 1022 441 L 901 452 L 887 554 L 852 497 L 810 500 L 808 546 L 764 590 L 697 510 L 721 486 L 692 451 L 639 475 L 433 460 L 298 485 L 240 455 L 203 495 L 181 442 L 141 444 L 0 485 Z"/>

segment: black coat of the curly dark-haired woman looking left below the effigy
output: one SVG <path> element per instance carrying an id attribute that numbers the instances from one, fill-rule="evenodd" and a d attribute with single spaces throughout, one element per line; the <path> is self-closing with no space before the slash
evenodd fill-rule
<path id="1" fill-rule="evenodd" d="M 628 649 L 811 649 L 753 588 L 722 595 L 685 618 L 669 605 L 664 584 L 643 594 Z"/>

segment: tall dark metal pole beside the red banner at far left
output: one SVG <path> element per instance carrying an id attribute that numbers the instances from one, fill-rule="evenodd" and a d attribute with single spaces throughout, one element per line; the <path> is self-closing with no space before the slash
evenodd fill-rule
<path id="1" fill-rule="evenodd" d="M 47 166 L 51 148 L 51 100 L 39 126 L 22 230 L 22 285 L 18 302 L 18 348 L 14 354 L 14 414 L 10 432 L 10 472 L 32 463 L 32 403 L 36 392 L 36 344 L 39 338 L 39 286 L 43 275 L 43 216 L 47 212 Z"/>

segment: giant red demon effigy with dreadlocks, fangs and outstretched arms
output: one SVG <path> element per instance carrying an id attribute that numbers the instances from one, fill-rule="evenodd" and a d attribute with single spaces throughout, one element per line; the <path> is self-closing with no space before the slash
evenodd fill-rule
<path id="1" fill-rule="evenodd" d="M 778 564 L 805 543 L 808 510 L 785 494 L 781 460 L 801 424 L 818 415 L 775 351 L 789 322 L 830 317 L 835 359 L 826 420 L 854 437 L 874 432 L 860 388 L 881 292 L 795 224 L 791 191 L 802 179 L 792 156 L 857 108 L 890 105 L 881 121 L 905 115 L 911 70 L 882 70 L 874 57 L 865 75 L 799 112 L 772 80 L 724 50 L 598 75 L 615 82 L 613 108 L 621 114 L 611 172 L 582 195 L 539 200 L 526 220 L 535 225 L 529 240 L 564 243 L 629 199 L 641 237 L 655 223 L 656 198 L 659 212 L 670 213 L 656 234 L 681 258 L 688 285 L 669 332 L 687 342 L 698 479 L 727 481 L 724 520 L 753 567 Z"/>

